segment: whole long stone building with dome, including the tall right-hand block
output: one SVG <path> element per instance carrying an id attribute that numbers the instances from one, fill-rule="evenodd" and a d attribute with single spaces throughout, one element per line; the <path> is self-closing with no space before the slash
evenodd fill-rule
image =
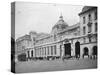
<path id="1" fill-rule="evenodd" d="M 27 59 L 84 58 L 97 56 L 97 7 L 85 6 L 79 13 L 80 22 L 69 26 L 63 16 L 50 34 L 31 31 L 16 40 L 16 55 Z"/>

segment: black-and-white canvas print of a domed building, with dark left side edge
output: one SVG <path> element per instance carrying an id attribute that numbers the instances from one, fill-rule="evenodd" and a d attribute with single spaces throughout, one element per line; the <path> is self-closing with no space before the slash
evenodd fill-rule
<path id="1" fill-rule="evenodd" d="M 96 69 L 98 7 L 11 3 L 11 72 Z"/>

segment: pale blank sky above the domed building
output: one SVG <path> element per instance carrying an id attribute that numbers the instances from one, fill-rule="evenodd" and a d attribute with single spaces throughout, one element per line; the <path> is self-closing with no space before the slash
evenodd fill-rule
<path id="1" fill-rule="evenodd" d="M 82 8 L 79 5 L 16 2 L 15 39 L 30 31 L 50 33 L 61 14 L 69 26 L 74 25 L 79 22 L 78 13 Z"/>

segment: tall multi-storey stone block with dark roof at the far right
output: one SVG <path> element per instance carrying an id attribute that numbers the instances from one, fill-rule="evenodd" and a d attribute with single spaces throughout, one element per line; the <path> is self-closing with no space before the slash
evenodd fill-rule
<path id="1" fill-rule="evenodd" d="M 79 16 L 80 34 L 84 38 L 81 50 L 90 56 L 97 55 L 97 7 L 84 7 Z"/>

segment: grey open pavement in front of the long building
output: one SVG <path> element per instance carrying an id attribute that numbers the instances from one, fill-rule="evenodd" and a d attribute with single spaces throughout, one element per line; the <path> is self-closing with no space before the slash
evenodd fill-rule
<path id="1" fill-rule="evenodd" d="M 97 68 L 97 60 L 95 59 L 69 59 L 58 60 L 37 60 L 16 63 L 17 73 L 27 72 L 44 72 L 44 71 L 60 71 L 75 69 L 91 69 Z"/>

